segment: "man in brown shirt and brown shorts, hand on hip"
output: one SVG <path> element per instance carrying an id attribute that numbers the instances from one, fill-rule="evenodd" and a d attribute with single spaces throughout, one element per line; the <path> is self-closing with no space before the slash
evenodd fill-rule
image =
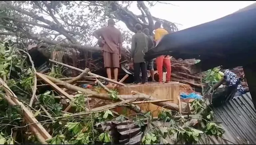
<path id="1" fill-rule="evenodd" d="M 103 44 L 104 67 L 108 78 L 111 79 L 111 68 L 114 68 L 114 80 L 117 81 L 123 39 L 121 32 L 114 25 L 114 20 L 109 19 L 108 26 L 96 30 L 93 35 Z M 109 82 L 109 85 L 112 83 Z"/>

